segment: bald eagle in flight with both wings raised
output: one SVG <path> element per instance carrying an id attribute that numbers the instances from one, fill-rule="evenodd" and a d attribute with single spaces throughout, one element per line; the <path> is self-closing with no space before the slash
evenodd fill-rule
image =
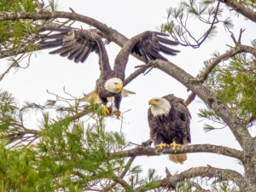
<path id="1" fill-rule="evenodd" d="M 96 92 L 104 105 L 103 113 L 105 115 L 109 113 L 107 98 L 114 96 L 114 106 L 117 108 L 117 115 L 119 116 L 119 107 L 122 99 L 121 90 L 125 81 L 125 67 L 130 53 L 142 56 L 143 60 L 147 63 L 148 58 L 166 61 L 166 58 L 160 55 L 160 52 L 167 55 L 176 55 L 179 52 L 164 45 L 177 45 L 176 42 L 163 38 L 168 35 L 161 32 L 143 32 L 129 39 L 124 44 L 114 60 L 112 69 L 102 38 L 95 31 L 60 28 L 53 28 L 50 31 L 57 33 L 42 34 L 39 46 L 42 49 L 59 46 L 61 48 L 55 49 L 49 52 L 49 54 L 67 56 L 69 60 L 75 62 L 84 62 L 90 52 L 96 52 L 99 55 L 101 74 L 100 78 L 96 81 Z"/>

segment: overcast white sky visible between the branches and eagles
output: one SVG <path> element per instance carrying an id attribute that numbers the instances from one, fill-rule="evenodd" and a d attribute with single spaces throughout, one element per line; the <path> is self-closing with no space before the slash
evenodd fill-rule
<path id="1" fill-rule="evenodd" d="M 127 38 L 131 38 L 139 32 L 158 30 L 160 24 L 166 22 L 166 9 L 170 6 L 176 7 L 177 2 L 170 0 L 130 0 L 129 3 L 125 0 L 62 0 L 60 1 L 59 10 L 68 11 L 68 8 L 71 7 L 77 13 L 99 20 L 123 33 Z M 236 25 L 237 22 L 238 25 Z M 77 26 L 79 25 L 88 28 L 84 24 L 78 24 Z M 236 36 L 240 28 L 247 28 L 243 34 L 243 44 L 249 44 L 249 41 L 255 38 L 256 27 L 252 22 L 243 20 L 240 16 L 238 19 L 236 18 L 235 25 L 234 32 Z M 222 26 L 219 28 L 221 32 L 218 33 L 218 36 L 212 38 L 207 44 L 203 44 L 201 48 L 191 49 L 179 46 L 177 49 L 181 49 L 181 53 L 177 56 L 170 56 L 168 59 L 182 67 L 186 72 L 196 76 L 204 66 L 203 61 L 209 59 L 213 52 L 218 50 L 222 54 L 225 49 L 228 49 L 226 44 L 233 45 L 230 34 L 224 32 Z M 201 34 L 201 28 L 197 25 L 193 26 L 193 31 Z M 110 61 L 113 63 L 119 47 L 111 43 L 107 49 Z M 53 97 L 46 93 L 47 89 L 61 95 L 63 94 L 62 88 L 65 86 L 69 93 L 77 97 L 83 96 L 83 92 L 87 93 L 94 89 L 99 75 L 98 61 L 95 54 L 91 54 L 84 64 L 76 64 L 58 55 L 48 55 L 48 52 L 48 50 L 38 51 L 36 56 L 32 56 L 30 67 L 26 70 L 19 70 L 17 73 L 12 71 L 6 75 L 0 88 L 12 93 L 19 100 L 20 105 L 24 101 L 43 104 L 47 99 L 52 99 Z M 3 72 L 7 64 L 8 61 L 2 60 L 0 72 Z M 140 61 L 130 57 L 126 77 L 139 64 L 141 64 Z M 125 88 L 137 92 L 136 95 L 125 98 L 121 102 L 122 112 L 131 109 L 124 115 L 122 131 L 125 132 L 127 141 L 132 143 L 142 143 L 149 138 L 147 111 L 148 100 L 151 97 L 165 96 L 170 93 L 183 99 L 189 96 L 189 92 L 183 84 L 179 84 L 175 79 L 157 69 L 152 70 L 146 76 L 141 75 Z M 203 125 L 206 121 L 201 121 L 197 117 L 199 109 L 203 107 L 203 103 L 198 98 L 189 105 L 192 114 L 190 125 L 192 144 L 211 143 L 240 149 L 228 128 L 207 133 L 203 131 Z M 120 120 L 108 119 L 107 123 L 109 130 L 119 131 Z M 32 128 L 38 125 L 38 122 L 33 120 L 33 116 L 30 116 L 26 117 L 26 125 Z M 243 172 L 237 160 L 217 154 L 188 154 L 188 160 L 182 166 L 172 163 L 168 160 L 167 155 L 138 157 L 135 160 L 136 164 L 143 165 L 143 169 L 155 168 L 159 174 L 165 174 L 166 167 L 174 173 L 194 166 L 207 165 Z"/>

